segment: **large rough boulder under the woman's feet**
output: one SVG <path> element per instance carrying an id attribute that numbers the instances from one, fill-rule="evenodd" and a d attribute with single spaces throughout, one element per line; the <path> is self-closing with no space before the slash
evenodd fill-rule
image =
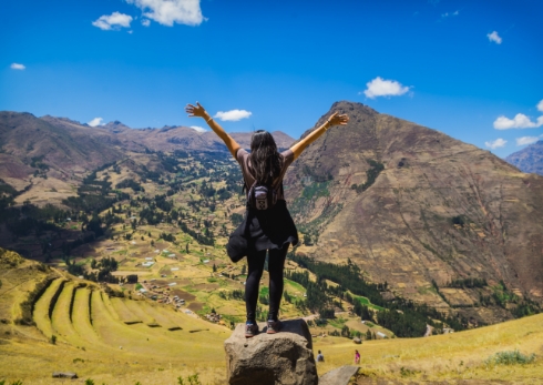
<path id="1" fill-rule="evenodd" d="M 245 325 L 236 326 L 225 341 L 226 368 L 230 385 L 317 385 L 313 342 L 304 320 L 284 321 L 279 333 L 260 333 L 245 338 Z"/>

